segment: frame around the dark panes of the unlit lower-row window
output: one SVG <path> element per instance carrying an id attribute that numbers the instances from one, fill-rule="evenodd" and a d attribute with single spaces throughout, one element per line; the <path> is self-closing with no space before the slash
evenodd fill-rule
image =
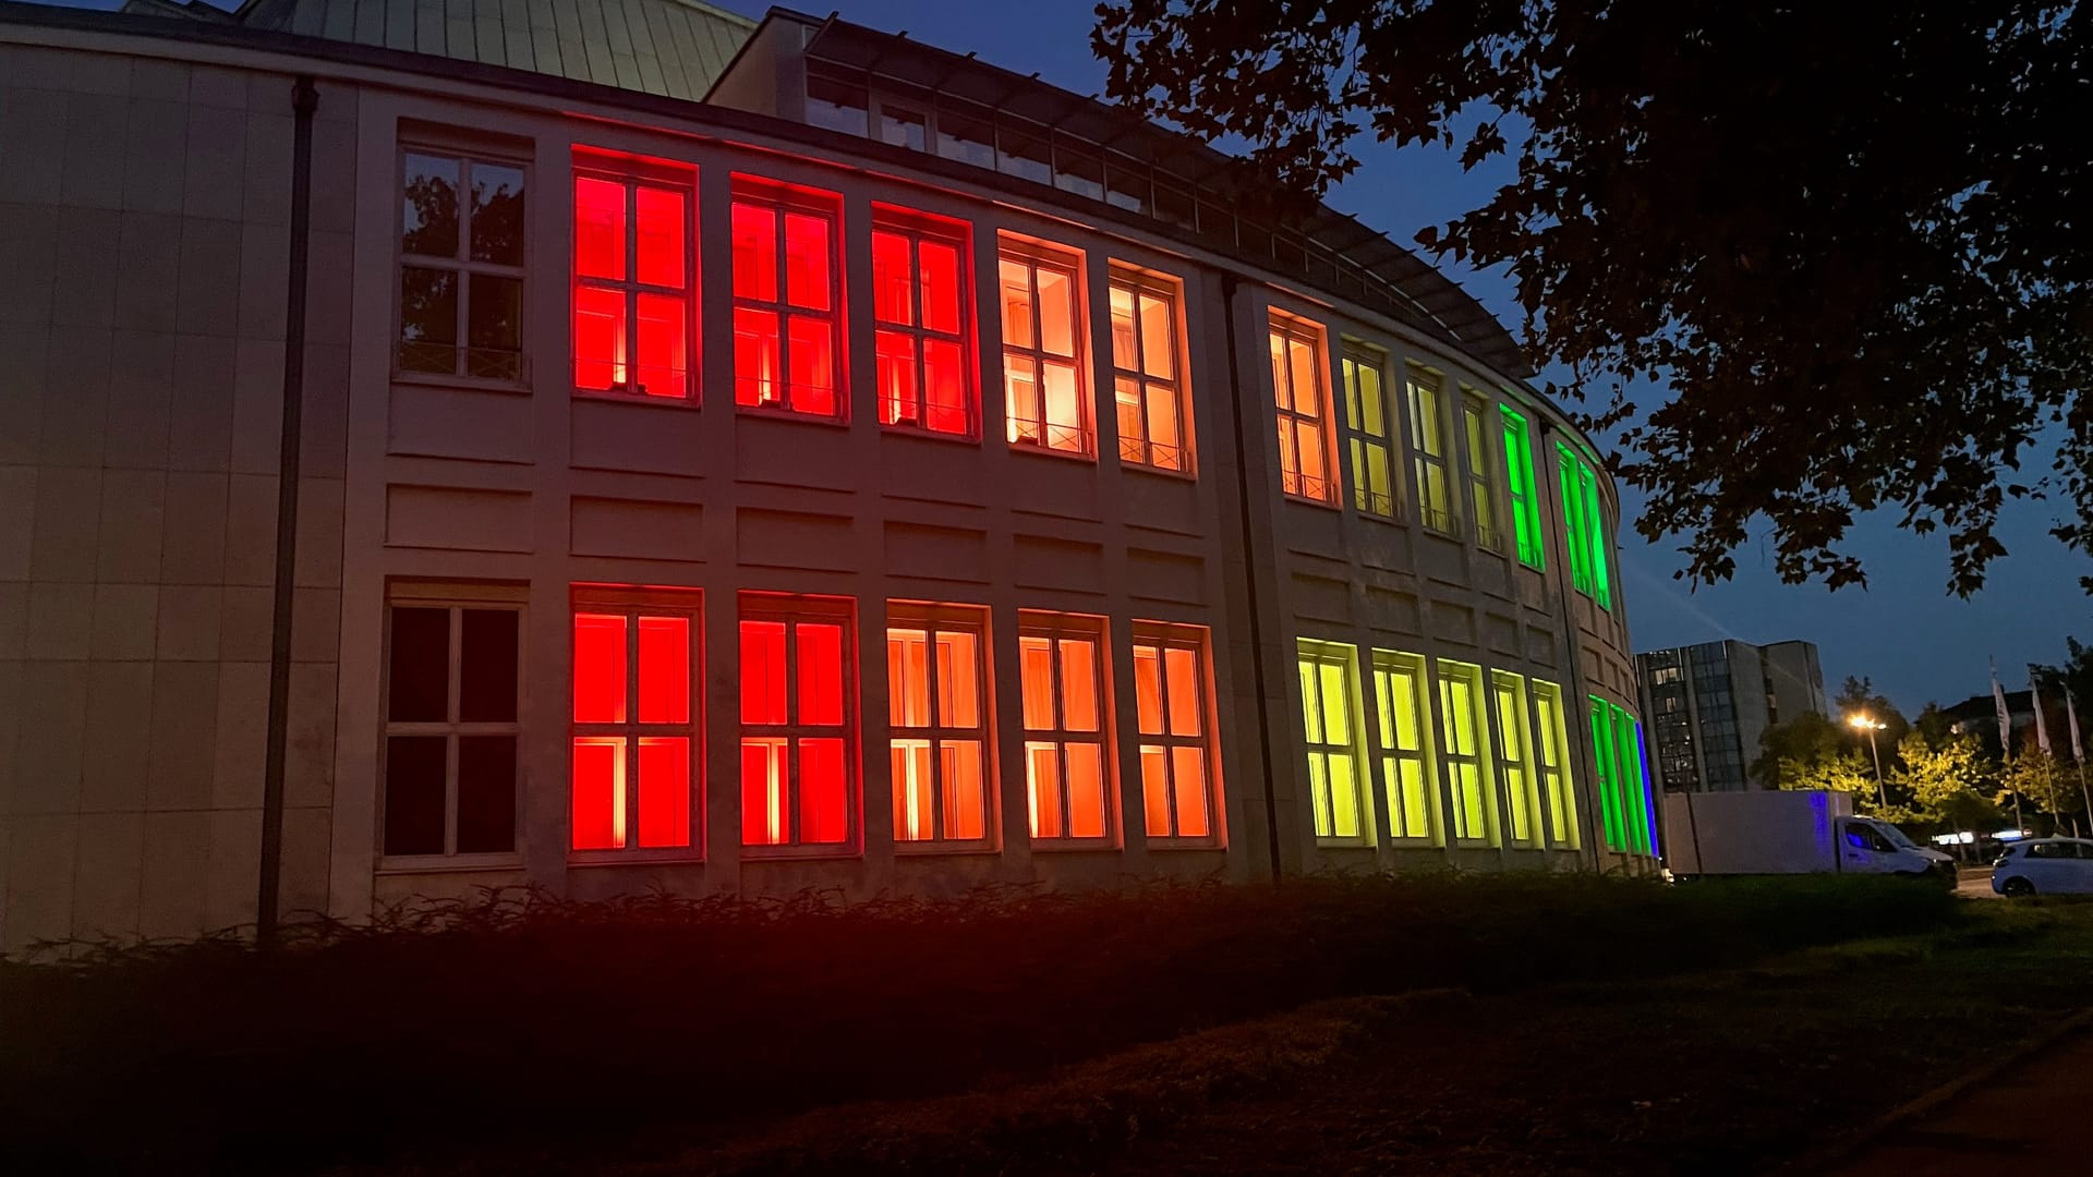
<path id="1" fill-rule="evenodd" d="M 393 666 L 393 612 L 396 609 L 448 609 L 446 637 L 446 702 L 444 720 L 396 720 L 391 718 L 391 666 Z M 465 612 L 511 612 L 517 618 L 517 710 L 513 720 L 463 720 L 460 693 L 465 687 Z M 525 656 L 530 643 L 527 593 L 507 584 L 391 584 L 385 593 L 385 622 L 381 635 L 383 662 L 379 670 L 379 762 L 375 798 L 375 840 L 379 873 L 419 871 L 471 871 L 490 867 L 515 867 L 523 861 L 523 699 L 527 695 L 530 666 Z M 444 737 L 444 850 L 437 854 L 393 854 L 385 848 L 387 808 L 387 764 L 391 760 L 393 737 Z M 511 783 L 511 848 L 458 852 L 458 739 L 473 735 L 509 737 L 515 741 L 517 767 Z"/>

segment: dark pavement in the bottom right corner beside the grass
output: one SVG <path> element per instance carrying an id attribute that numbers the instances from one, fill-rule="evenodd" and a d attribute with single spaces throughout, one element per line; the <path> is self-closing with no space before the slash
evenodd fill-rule
<path id="1" fill-rule="evenodd" d="M 1938 1100 L 1938 1102 L 1934 1102 Z M 1859 1152 L 1815 1177 L 2013 1177 L 2093 1173 L 2093 1028 L 1980 1074 L 1959 1091 L 1921 1097 Z"/>

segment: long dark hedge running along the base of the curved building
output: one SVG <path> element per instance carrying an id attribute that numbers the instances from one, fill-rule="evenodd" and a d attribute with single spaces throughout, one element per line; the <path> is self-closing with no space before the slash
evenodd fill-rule
<path id="1" fill-rule="evenodd" d="M 161 1171 L 617 1141 L 961 1091 L 1323 997 L 1635 978 L 1951 909 L 1900 880 L 1450 873 L 867 905 L 496 892 L 270 953 L 0 965 L 0 1106 L 17 1158 Z"/>

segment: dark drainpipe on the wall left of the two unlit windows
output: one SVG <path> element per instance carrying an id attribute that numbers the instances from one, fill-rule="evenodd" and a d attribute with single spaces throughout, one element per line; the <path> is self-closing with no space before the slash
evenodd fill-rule
<path id="1" fill-rule="evenodd" d="M 291 601 L 297 580 L 297 461 L 306 417 L 306 270 L 312 222 L 312 113 L 320 94 L 310 75 L 291 84 L 291 266 L 283 329 L 283 438 L 276 450 L 276 599 L 270 609 L 268 756 L 262 767 L 262 880 L 255 942 L 276 942 L 283 880 L 283 775 L 291 737 Z"/>

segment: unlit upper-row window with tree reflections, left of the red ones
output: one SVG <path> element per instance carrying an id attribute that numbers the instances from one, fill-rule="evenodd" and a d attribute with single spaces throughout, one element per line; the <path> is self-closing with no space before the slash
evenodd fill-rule
<path id="1" fill-rule="evenodd" d="M 523 379 L 523 165 L 402 153 L 404 373 Z"/>

